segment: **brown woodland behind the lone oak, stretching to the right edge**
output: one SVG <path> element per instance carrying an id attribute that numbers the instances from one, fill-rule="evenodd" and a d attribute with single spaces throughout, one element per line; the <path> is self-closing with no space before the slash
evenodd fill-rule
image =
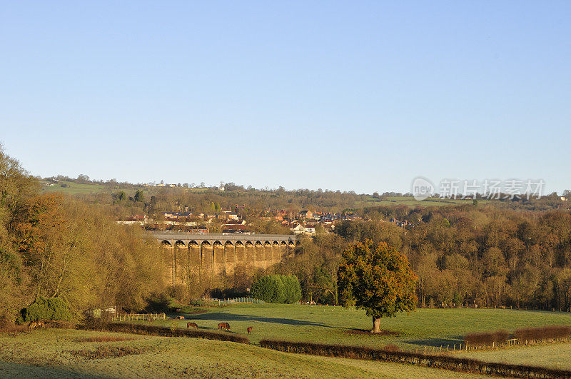
<path id="1" fill-rule="evenodd" d="M 398 212 L 411 217 L 413 226 L 382 219 L 341 222 L 335 236 L 303 239 L 281 272 L 298 276 L 305 298 L 336 303 L 341 252 L 359 241 L 385 242 L 410 261 L 420 306 L 571 311 L 569 211 L 467 205 Z"/>

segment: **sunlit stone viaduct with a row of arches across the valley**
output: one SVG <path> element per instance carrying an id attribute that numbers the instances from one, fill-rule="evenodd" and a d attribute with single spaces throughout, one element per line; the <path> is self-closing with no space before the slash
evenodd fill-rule
<path id="1" fill-rule="evenodd" d="M 228 276 L 250 276 L 293 255 L 296 237 L 279 234 L 152 232 L 165 248 L 168 282 L 221 284 Z"/>

